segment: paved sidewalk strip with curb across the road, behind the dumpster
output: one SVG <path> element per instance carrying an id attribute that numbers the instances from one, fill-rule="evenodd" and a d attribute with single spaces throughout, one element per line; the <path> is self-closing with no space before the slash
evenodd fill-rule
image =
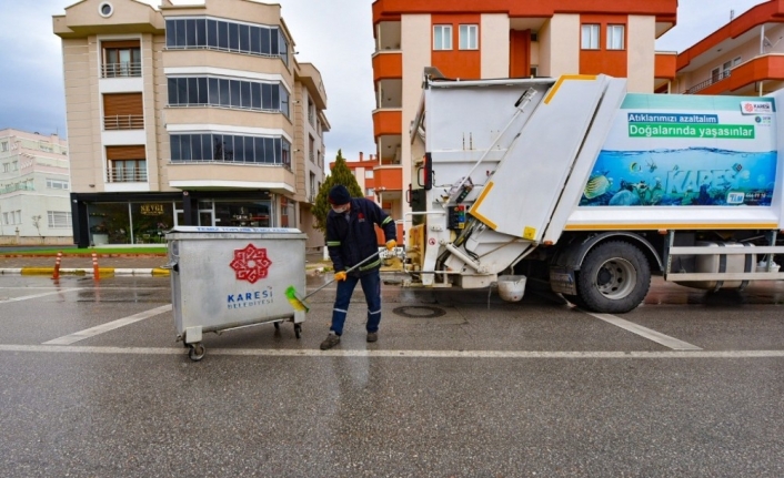
<path id="1" fill-rule="evenodd" d="M 161 266 L 167 263 L 165 254 L 98 254 L 98 273 L 111 275 L 169 275 L 169 269 Z M 56 256 L 19 255 L 0 256 L 0 274 L 53 275 Z M 323 261 L 321 253 L 305 255 L 305 271 L 315 272 L 332 267 L 330 261 Z M 66 255 L 60 263 L 61 275 L 92 275 L 92 256 Z"/>

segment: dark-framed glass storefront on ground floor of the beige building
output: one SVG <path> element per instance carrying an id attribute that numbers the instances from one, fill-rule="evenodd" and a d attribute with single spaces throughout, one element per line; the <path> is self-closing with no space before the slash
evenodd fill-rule
<path id="1" fill-rule="evenodd" d="M 79 247 L 165 244 L 178 225 L 296 227 L 296 203 L 267 191 L 71 194 Z"/>

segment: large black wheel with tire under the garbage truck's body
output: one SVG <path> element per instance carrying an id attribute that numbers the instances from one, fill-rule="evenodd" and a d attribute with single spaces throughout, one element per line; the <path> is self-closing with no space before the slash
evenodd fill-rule
<path id="1" fill-rule="evenodd" d="M 575 278 L 581 306 L 622 314 L 635 308 L 647 295 L 651 266 L 634 245 L 611 241 L 587 253 Z"/>

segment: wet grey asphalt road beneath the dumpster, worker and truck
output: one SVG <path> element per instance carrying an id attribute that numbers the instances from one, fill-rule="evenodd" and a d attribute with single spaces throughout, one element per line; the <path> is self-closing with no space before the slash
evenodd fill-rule
<path id="1" fill-rule="evenodd" d="M 358 289 L 324 353 L 333 294 L 310 301 L 300 339 L 291 324 L 207 334 L 194 363 L 174 340 L 168 277 L 0 277 L 0 469 L 784 476 L 784 285 L 656 281 L 615 317 L 532 285 L 520 304 L 384 286 L 375 344 Z"/>

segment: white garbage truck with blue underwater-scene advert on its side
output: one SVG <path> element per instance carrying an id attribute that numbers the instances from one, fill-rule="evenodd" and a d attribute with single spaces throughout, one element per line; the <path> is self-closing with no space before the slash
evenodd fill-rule
<path id="1" fill-rule="evenodd" d="M 529 277 L 625 313 L 652 275 L 707 291 L 784 279 L 784 92 L 436 77 L 425 74 L 411 122 L 409 285 Z"/>

